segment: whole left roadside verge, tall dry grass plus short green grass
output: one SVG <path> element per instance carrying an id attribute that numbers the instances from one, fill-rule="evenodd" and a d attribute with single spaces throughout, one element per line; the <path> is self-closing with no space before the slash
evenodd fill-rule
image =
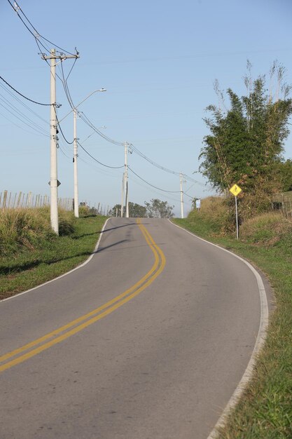
<path id="1" fill-rule="evenodd" d="M 86 212 L 83 212 L 86 214 Z M 59 211 L 60 236 L 48 208 L 0 211 L 0 299 L 33 288 L 81 264 L 92 253 L 106 217 Z"/>

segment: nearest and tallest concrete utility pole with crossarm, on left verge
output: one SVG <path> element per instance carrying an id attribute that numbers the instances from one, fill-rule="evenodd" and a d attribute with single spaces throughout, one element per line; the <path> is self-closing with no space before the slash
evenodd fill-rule
<path id="1" fill-rule="evenodd" d="M 67 60 L 67 58 L 79 58 L 79 55 L 56 55 L 56 50 L 51 49 L 50 55 L 42 55 L 43 60 L 50 60 L 50 224 L 53 231 L 59 234 L 58 221 L 58 186 L 57 179 L 57 105 L 56 102 L 56 60 Z"/>

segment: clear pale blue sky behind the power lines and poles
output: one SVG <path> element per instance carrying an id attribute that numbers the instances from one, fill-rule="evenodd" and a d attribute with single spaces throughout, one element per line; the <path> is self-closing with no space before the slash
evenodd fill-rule
<path id="1" fill-rule="evenodd" d="M 42 36 L 69 52 L 74 53 L 75 47 L 80 52 L 68 79 L 75 105 L 93 90 L 106 88 L 106 93 L 95 93 L 78 109 L 97 128 L 106 126 L 103 132 L 107 136 L 130 142 L 161 166 L 197 180 L 196 184 L 183 184 L 190 196 L 203 198 L 212 193 L 200 173 L 194 172 L 200 164 L 202 139 L 208 133 L 202 120 L 207 115 L 204 109 L 218 103 L 214 80 L 218 79 L 223 90 L 230 87 L 243 95 L 246 60 L 253 65 L 254 78 L 268 74 L 273 60 L 278 60 L 286 67 L 286 81 L 292 83 L 291 0 L 18 3 Z M 34 37 L 6 0 L 1 0 L 0 19 L 0 75 L 23 95 L 49 103 L 50 71 L 38 55 Z M 48 43 L 48 47 L 54 46 Z M 63 62 L 65 76 L 72 65 L 71 60 Z M 5 84 L 0 81 L 0 86 Z M 49 195 L 50 109 L 18 96 L 34 114 L 13 95 L 6 86 L 0 87 L 0 191 Z M 62 104 L 58 110 L 62 119 L 70 107 L 59 80 L 57 102 Z M 24 123 L 18 117 L 31 121 L 25 119 Z M 81 142 L 92 133 L 81 119 L 77 129 Z M 62 130 L 67 140 L 73 140 L 72 115 L 64 120 Z M 105 164 L 123 166 L 123 147 L 97 134 L 83 147 Z M 285 157 L 291 157 L 291 136 L 285 148 Z M 100 166 L 82 149 L 78 154 L 80 201 L 106 206 L 120 203 L 123 170 Z M 64 198 L 73 197 L 72 156 L 72 146 L 60 135 L 59 196 Z M 179 191 L 178 176 L 155 168 L 135 153 L 130 154 L 129 164 L 154 186 Z M 151 198 L 168 201 L 179 215 L 179 194 L 153 189 L 131 173 L 129 193 L 134 203 L 144 204 Z M 190 198 L 185 201 L 187 212 Z"/>

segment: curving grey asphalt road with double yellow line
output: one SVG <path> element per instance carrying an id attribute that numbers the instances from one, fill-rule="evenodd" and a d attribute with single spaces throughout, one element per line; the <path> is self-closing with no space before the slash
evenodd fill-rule
<path id="1" fill-rule="evenodd" d="M 249 363 L 258 284 L 164 219 L 0 303 L 0 438 L 206 439 Z"/>

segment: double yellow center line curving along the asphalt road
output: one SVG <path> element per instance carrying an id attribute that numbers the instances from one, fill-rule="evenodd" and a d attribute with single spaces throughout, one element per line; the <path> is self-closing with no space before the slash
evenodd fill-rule
<path id="1" fill-rule="evenodd" d="M 147 288 L 155 278 L 157 278 L 162 270 L 165 267 L 165 255 L 162 250 L 158 247 L 158 245 L 153 240 L 151 234 L 147 231 L 147 229 L 141 224 L 141 220 L 137 219 L 137 223 L 139 228 L 144 235 L 146 243 L 148 243 L 151 248 L 155 262 L 151 269 L 146 273 L 143 278 L 141 278 L 137 283 L 132 285 L 128 290 L 125 290 L 122 294 L 114 297 L 109 302 L 106 302 L 102 306 L 99 306 L 96 309 L 90 311 L 90 313 L 85 314 L 84 316 L 78 317 L 75 320 L 67 323 L 62 327 L 57 328 L 52 332 L 48 332 L 48 334 L 43 335 L 39 339 L 34 340 L 24 346 L 21 346 L 14 351 L 8 352 L 3 356 L 0 356 L 0 372 L 3 372 L 10 367 L 18 365 L 29 358 L 45 351 L 46 349 L 54 346 L 57 343 L 62 342 L 63 340 L 71 337 L 71 335 L 76 334 L 77 332 L 82 331 L 85 327 L 92 325 L 92 323 L 97 322 L 108 316 L 110 313 L 115 311 L 116 309 L 123 306 L 125 303 L 129 302 L 133 297 L 139 295 L 139 293 L 145 288 Z"/>

